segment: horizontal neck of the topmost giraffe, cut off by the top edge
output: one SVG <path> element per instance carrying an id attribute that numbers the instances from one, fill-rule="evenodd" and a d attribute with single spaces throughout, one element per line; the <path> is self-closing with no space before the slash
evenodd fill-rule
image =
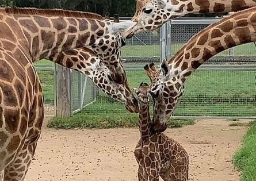
<path id="1" fill-rule="evenodd" d="M 175 12 L 169 16 L 170 19 L 173 19 L 173 16 L 179 17 L 185 14 L 223 13 L 253 6 L 256 6 L 256 2 L 253 0 L 173 0 L 167 3 L 166 9 Z"/>

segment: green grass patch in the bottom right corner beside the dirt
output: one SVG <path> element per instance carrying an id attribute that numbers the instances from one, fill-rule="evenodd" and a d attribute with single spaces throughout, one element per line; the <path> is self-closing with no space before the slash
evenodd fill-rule
<path id="1" fill-rule="evenodd" d="M 240 180 L 256 180 L 256 121 L 251 122 L 250 129 L 244 136 L 242 148 L 235 153 L 233 161 L 242 172 Z"/>

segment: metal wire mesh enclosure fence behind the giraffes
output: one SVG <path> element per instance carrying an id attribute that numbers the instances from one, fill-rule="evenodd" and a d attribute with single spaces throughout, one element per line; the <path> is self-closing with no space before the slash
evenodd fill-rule
<path id="1" fill-rule="evenodd" d="M 172 57 L 194 34 L 219 20 L 178 18 L 159 30 L 136 34 L 128 39 L 122 48 L 122 57 L 127 59 L 124 68 L 130 87 L 138 87 L 140 82 L 150 83 L 143 71 L 145 64 L 154 62 L 159 65 L 165 57 Z M 255 118 L 255 58 L 254 43 L 240 45 L 212 57 L 185 84 L 184 98 L 174 111 L 174 117 Z M 54 76 L 52 83 L 55 91 L 54 94 L 45 94 L 45 103 L 49 102 L 54 107 L 55 114 L 62 109 L 70 111 L 70 114 L 78 111 L 83 114 L 128 114 L 123 104 L 109 98 L 85 75 L 71 70 L 64 75 L 62 69 L 61 66 L 52 66 L 51 72 L 41 73 Z M 68 95 L 62 95 L 63 86 L 67 86 L 63 85 L 64 79 L 70 82 L 64 88 L 69 91 Z M 42 79 L 41 82 L 45 93 L 48 84 Z M 69 101 L 65 102 L 64 99 Z"/>

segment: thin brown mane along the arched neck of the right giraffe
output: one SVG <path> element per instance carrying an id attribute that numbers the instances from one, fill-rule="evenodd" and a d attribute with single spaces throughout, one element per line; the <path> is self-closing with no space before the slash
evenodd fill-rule
<path id="1" fill-rule="evenodd" d="M 219 22 L 217 23 L 213 23 L 209 26 L 207 26 L 207 28 L 202 29 L 200 32 L 198 32 L 197 34 L 195 34 L 194 36 L 192 36 L 192 38 L 190 38 L 190 40 L 188 41 L 188 43 L 186 43 L 181 49 L 179 49 L 178 52 L 175 53 L 175 55 L 173 57 L 171 57 L 171 59 L 168 61 L 168 64 L 172 63 L 177 57 L 181 56 L 181 53 L 184 52 L 184 49 L 187 48 L 189 45 L 193 44 L 195 41 L 197 41 L 198 37 L 200 37 L 202 34 L 204 34 L 205 32 L 207 32 L 209 29 L 212 29 L 214 26 L 219 26 L 220 24 L 222 24 L 224 21 L 226 21 L 229 18 L 233 18 L 235 16 L 240 16 L 240 14 L 244 14 L 247 13 L 248 11 L 251 11 L 253 9 L 255 9 L 256 7 L 251 7 L 249 9 L 246 10 L 240 10 L 235 14 L 232 14 L 231 16 L 222 18 Z"/>

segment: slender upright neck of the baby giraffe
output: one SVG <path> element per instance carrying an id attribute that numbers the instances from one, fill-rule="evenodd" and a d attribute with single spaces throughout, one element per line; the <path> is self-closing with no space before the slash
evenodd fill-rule
<path id="1" fill-rule="evenodd" d="M 150 136 L 150 106 L 149 103 L 139 102 L 139 128 L 142 141 Z"/>

